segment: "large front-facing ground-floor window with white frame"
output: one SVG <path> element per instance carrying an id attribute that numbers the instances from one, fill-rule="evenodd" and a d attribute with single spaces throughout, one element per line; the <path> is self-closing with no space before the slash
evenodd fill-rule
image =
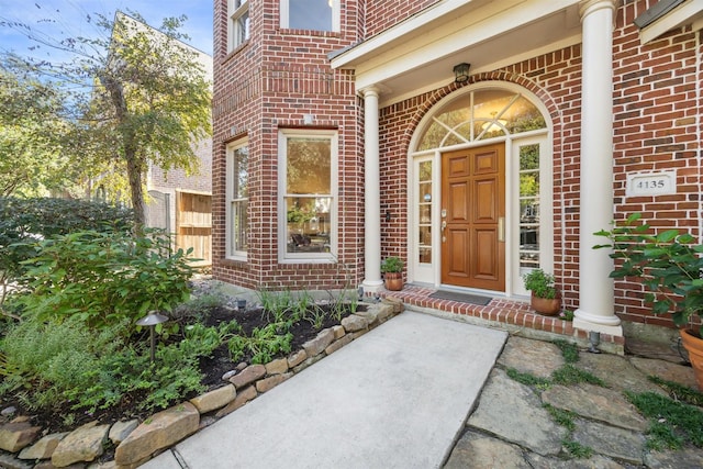
<path id="1" fill-rule="evenodd" d="M 331 261 L 336 239 L 337 134 L 279 134 L 279 257 Z"/>

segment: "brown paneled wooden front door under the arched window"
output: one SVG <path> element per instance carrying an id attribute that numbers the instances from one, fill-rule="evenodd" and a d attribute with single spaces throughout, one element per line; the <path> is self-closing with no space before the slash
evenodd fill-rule
<path id="1" fill-rule="evenodd" d="M 442 283 L 505 290 L 504 144 L 442 155 Z"/>

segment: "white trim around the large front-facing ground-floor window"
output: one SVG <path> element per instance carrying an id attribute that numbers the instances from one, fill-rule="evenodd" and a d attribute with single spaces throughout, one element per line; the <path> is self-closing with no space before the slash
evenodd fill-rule
<path id="1" fill-rule="evenodd" d="M 330 253 L 289 253 L 288 216 L 286 212 L 286 178 L 288 168 L 287 141 L 289 137 L 330 138 L 331 196 L 330 209 Z M 338 201 L 338 134 L 336 131 L 314 131 L 305 129 L 282 129 L 278 133 L 278 261 L 279 264 L 332 264 L 337 258 L 337 201 Z"/>

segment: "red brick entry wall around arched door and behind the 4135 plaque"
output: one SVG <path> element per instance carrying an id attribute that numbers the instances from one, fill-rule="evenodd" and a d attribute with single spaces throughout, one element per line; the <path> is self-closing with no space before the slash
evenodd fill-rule
<path id="1" fill-rule="evenodd" d="M 672 31 L 640 45 L 632 21 L 647 2 L 629 2 L 617 12 L 614 32 L 615 212 L 623 220 L 644 213 L 661 228 L 701 231 L 701 32 Z M 515 82 L 539 97 L 554 123 L 554 271 L 565 308 L 578 308 L 581 139 L 581 48 L 557 51 L 493 72 L 475 75 L 467 85 L 498 80 Z M 383 228 L 382 256 L 405 256 L 409 188 L 404 175 L 410 138 L 433 104 L 456 85 L 381 110 L 381 200 L 393 215 Z M 678 193 L 625 198 L 628 172 L 678 170 Z M 386 223 L 386 222 L 383 222 Z M 604 226 L 603 228 L 607 228 Z M 643 303 L 641 284 L 616 283 L 616 312 L 626 321 L 671 325 L 654 317 Z"/>

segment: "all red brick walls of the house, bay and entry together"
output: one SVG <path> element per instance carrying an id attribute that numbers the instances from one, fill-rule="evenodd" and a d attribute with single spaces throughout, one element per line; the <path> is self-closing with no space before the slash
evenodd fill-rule
<path id="1" fill-rule="evenodd" d="M 354 77 L 332 71 L 326 54 L 368 38 L 436 3 L 432 0 L 345 1 L 343 31 L 313 33 L 280 30 L 278 0 L 252 0 L 252 40 L 227 55 L 226 1 L 215 0 L 214 97 L 214 268 L 216 277 L 252 288 L 261 284 L 310 288 L 335 283 L 336 267 L 278 265 L 276 258 L 276 181 L 278 129 L 315 124 L 339 131 L 341 260 L 350 266 L 352 283 L 362 278 L 362 110 Z M 701 227 L 701 33 L 690 26 L 641 45 L 632 21 L 648 1 L 624 2 L 614 31 L 614 191 L 616 219 L 639 211 L 658 227 Z M 581 48 L 571 46 L 491 72 L 468 85 L 518 83 L 536 94 L 550 114 L 554 148 L 554 246 L 565 306 L 578 308 Z M 427 111 L 456 85 L 381 110 L 382 256 L 405 256 L 408 243 L 406 171 L 410 139 Z M 236 126 L 234 133 L 232 127 Z M 247 264 L 224 256 L 225 144 L 247 135 L 250 150 L 250 230 Z M 626 198 L 628 172 L 677 169 L 674 196 Z M 605 228 L 605 227 L 604 227 Z M 338 282 L 337 282 L 338 283 Z M 638 283 L 616 283 L 616 311 L 624 320 L 662 323 L 641 302 Z M 670 324 L 668 320 L 663 323 Z"/>

